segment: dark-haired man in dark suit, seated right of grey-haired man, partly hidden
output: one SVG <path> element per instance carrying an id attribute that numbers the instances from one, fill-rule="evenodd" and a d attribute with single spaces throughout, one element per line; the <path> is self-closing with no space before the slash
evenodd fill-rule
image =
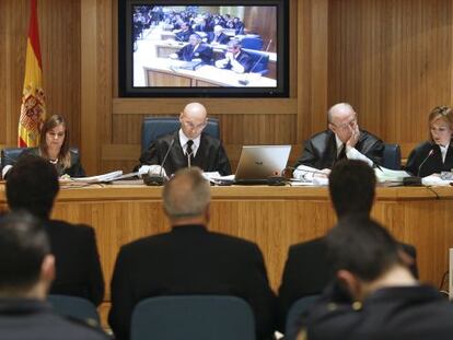
<path id="1" fill-rule="evenodd" d="M 329 194 L 338 220 L 350 214 L 369 215 L 375 196 L 374 171 L 362 161 L 342 160 L 329 175 Z M 414 246 L 400 244 L 411 271 L 417 273 Z M 292 245 L 279 289 L 279 329 L 283 330 L 288 310 L 299 298 L 320 294 L 333 279 L 325 237 Z"/>

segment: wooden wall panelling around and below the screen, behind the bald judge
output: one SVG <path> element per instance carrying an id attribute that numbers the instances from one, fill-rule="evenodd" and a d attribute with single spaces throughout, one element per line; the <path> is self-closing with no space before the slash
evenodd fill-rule
<path id="1" fill-rule="evenodd" d="M 318 124 L 313 112 L 325 113 L 327 103 L 327 0 L 290 0 L 290 98 L 195 98 L 206 105 L 212 117 L 221 122 L 221 137 L 231 151 L 233 167 L 237 163 L 239 151 L 242 144 L 293 144 L 298 145 L 311 134 L 311 121 L 316 127 L 325 126 L 325 119 Z M 311 3 L 314 3 L 312 7 Z M 298 17 L 298 9 L 302 3 L 310 7 L 310 12 L 303 19 Z M 320 4 L 321 3 L 321 4 Z M 113 5 L 115 8 L 115 4 Z M 115 15 L 115 12 L 114 12 Z M 315 16 L 312 20 L 312 15 Z M 304 24 L 309 23 L 305 33 Z M 115 24 L 115 21 L 114 21 Z M 304 32 L 305 39 L 298 40 L 295 32 Z M 114 27 L 115 31 L 115 27 Z M 323 34 L 320 34 L 322 32 Z M 116 36 L 116 33 L 113 33 Z M 312 38 L 313 36 L 313 38 Z M 310 44 L 309 47 L 306 47 Z M 300 52 L 299 46 L 305 47 L 309 55 Z M 113 47 L 116 48 L 115 44 Z M 303 61 L 313 65 L 315 69 L 307 77 L 306 68 L 298 69 L 299 56 Z M 114 54 L 115 56 L 115 54 Z M 298 62 L 294 62 L 298 60 Z M 112 63 L 114 84 L 117 82 L 116 65 Z M 300 71 L 299 71 L 300 70 Z M 318 72 L 321 71 L 321 72 Z M 314 86 L 311 86 L 312 82 Z M 307 97 L 301 95 L 298 89 L 309 89 Z M 113 90 L 116 93 L 116 89 Z M 115 169 L 123 165 L 126 169 L 136 164 L 139 154 L 141 119 L 148 115 L 175 116 L 184 105 L 194 98 L 114 98 L 112 113 L 111 142 L 103 143 L 102 171 Z M 314 108 L 314 109 L 313 109 Z M 301 132 L 302 130 L 302 132 Z M 129 148 L 130 145 L 131 148 Z M 298 148 L 298 152 L 300 149 Z M 135 154 L 136 156 L 131 156 Z M 292 155 L 292 160 L 297 157 Z M 291 161 L 292 162 L 292 161 Z"/>

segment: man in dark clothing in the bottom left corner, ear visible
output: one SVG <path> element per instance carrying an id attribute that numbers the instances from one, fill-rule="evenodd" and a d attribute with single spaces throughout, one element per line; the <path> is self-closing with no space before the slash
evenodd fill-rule
<path id="1" fill-rule="evenodd" d="M 45 303 L 55 257 L 42 222 L 28 213 L 0 219 L 0 338 L 106 340 L 101 330 L 66 319 Z"/>

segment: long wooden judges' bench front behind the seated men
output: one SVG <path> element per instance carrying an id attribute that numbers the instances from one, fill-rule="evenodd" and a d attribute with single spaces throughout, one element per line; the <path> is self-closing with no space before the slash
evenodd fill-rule
<path id="1" fill-rule="evenodd" d="M 106 302 L 111 300 L 109 281 L 119 247 L 170 228 L 161 190 L 91 185 L 62 188 L 58 195 L 53 218 L 86 223 L 96 230 Z M 336 222 L 325 187 L 212 187 L 211 194 L 209 228 L 256 242 L 276 291 L 289 246 L 324 235 Z M 0 207 L 7 207 L 3 186 Z M 453 187 L 378 188 L 372 215 L 397 239 L 417 247 L 421 281 L 439 286 L 449 269 L 448 249 L 453 247 Z"/>

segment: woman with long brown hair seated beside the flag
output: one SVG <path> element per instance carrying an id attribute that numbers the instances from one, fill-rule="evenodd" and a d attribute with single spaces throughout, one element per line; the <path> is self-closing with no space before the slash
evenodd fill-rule
<path id="1" fill-rule="evenodd" d="M 38 148 L 24 150 L 20 157 L 34 154 L 54 164 L 58 176 L 84 177 L 85 172 L 80 163 L 79 153 L 69 149 L 69 129 L 65 118 L 54 115 L 40 129 Z"/>

